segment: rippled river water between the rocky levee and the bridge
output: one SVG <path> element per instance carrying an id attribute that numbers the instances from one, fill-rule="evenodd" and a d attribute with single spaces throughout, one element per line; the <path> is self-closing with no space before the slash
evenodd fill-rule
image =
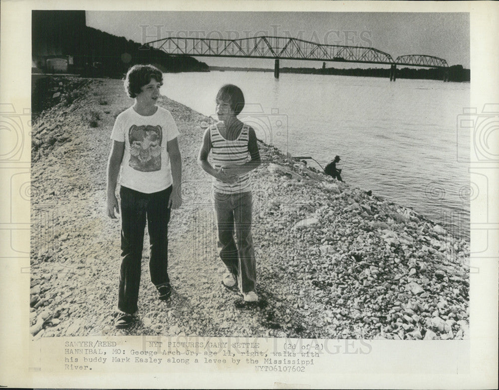
<path id="1" fill-rule="evenodd" d="M 456 133 L 457 116 L 470 106 L 469 83 L 238 71 L 163 76 L 162 94 L 211 116 L 220 86 L 238 85 L 246 98 L 240 118 L 258 138 L 322 166 L 339 155 L 345 182 L 469 238 L 469 165 L 457 156 L 469 155 L 470 140 Z"/>

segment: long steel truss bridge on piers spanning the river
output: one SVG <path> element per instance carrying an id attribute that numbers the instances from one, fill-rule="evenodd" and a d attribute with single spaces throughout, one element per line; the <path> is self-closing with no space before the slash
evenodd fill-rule
<path id="1" fill-rule="evenodd" d="M 391 65 L 390 80 L 395 81 L 397 65 L 437 67 L 444 69 L 448 80 L 449 65 L 445 59 L 424 54 L 392 56 L 372 47 L 340 46 L 280 36 L 256 36 L 241 39 L 168 37 L 144 44 L 172 55 L 194 57 L 243 57 L 274 59 L 274 76 L 279 77 L 279 59 L 361 62 Z"/>

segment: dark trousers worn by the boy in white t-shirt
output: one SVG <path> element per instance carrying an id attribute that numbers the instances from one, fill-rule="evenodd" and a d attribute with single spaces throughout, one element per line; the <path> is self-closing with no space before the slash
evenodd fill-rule
<path id="1" fill-rule="evenodd" d="M 172 186 L 145 194 L 121 187 L 121 267 L 118 309 L 133 314 L 138 310 L 144 228 L 149 232 L 149 271 L 155 286 L 169 283 L 168 278 L 168 200 Z"/>

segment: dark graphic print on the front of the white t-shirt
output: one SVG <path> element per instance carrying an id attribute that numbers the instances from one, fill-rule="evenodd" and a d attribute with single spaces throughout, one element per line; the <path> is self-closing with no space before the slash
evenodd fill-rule
<path id="1" fill-rule="evenodd" d="M 141 172 L 154 172 L 161 169 L 161 126 L 136 126 L 128 130 L 130 141 L 130 165 Z"/>

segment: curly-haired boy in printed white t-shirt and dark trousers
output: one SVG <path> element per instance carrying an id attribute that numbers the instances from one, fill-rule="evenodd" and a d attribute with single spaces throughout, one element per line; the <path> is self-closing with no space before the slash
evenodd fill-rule
<path id="1" fill-rule="evenodd" d="M 116 328 L 128 328 L 138 310 L 144 228 L 150 242 L 149 269 L 159 299 L 171 294 L 168 277 L 170 209 L 182 204 L 182 161 L 179 131 L 170 111 L 156 101 L 163 84 L 161 71 L 151 65 L 132 66 L 125 78 L 133 106 L 116 118 L 107 167 L 107 214 L 121 209 L 121 267 Z M 120 174 L 120 208 L 116 184 Z"/>

